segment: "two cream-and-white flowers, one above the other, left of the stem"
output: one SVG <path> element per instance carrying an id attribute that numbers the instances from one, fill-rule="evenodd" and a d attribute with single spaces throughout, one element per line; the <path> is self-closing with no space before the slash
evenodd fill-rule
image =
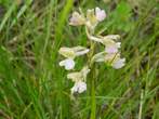
<path id="1" fill-rule="evenodd" d="M 66 60 L 59 62 L 59 66 L 64 66 L 66 70 L 74 69 L 75 58 L 77 56 L 87 54 L 90 50 L 84 47 L 74 47 L 74 48 L 61 48 L 59 54 L 62 54 Z M 68 79 L 71 79 L 75 82 L 75 85 L 71 88 L 71 93 L 82 93 L 87 90 L 87 75 L 90 69 L 88 66 L 83 67 L 81 71 L 70 72 L 67 75 Z"/>

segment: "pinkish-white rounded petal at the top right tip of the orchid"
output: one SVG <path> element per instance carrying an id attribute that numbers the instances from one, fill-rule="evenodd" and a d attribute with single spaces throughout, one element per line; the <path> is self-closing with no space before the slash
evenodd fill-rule
<path id="1" fill-rule="evenodd" d="M 98 22 L 102 22 L 105 19 L 106 13 L 104 10 L 101 10 L 100 8 L 95 8 L 95 16 Z"/>

